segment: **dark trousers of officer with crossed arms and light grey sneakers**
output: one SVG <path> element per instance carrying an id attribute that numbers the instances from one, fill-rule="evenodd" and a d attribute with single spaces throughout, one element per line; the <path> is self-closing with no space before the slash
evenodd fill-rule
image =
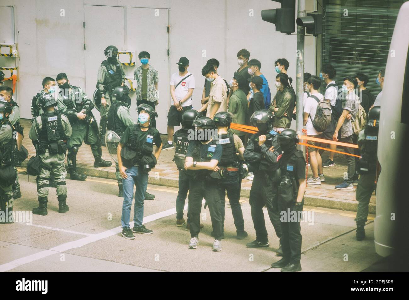
<path id="1" fill-rule="evenodd" d="M 200 180 L 189 177 L 189 219 L 190 236 L 198 238 L 200 232 L 200 212 L 202 211 L 202 200 L 205 198 L 209 207 L 211 225 L 213 227 L 214 239 L 221 240 L 222 215 L 220 213 L 220 193 L 216 180 Z"/>

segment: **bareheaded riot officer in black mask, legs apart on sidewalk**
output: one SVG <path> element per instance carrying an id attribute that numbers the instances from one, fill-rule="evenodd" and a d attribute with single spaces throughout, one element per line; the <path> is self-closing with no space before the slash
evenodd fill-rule
<path id="1" fill-rule="evenodd" d="M 72 127 L 72 135 L 67 141 L 67 171 L 70 173 L 70 179 L 85 180 L 87 176 L 76 170 L 76 156 L 83 141 L 91 145 L 94 167 L 110 167 L 112 162 L 102 159 L 101 139 L 97 121 L 92 114 L 94 104 L 90 98 L 81 88 L 70 85 L 65 73 L 59 73 L 56 80 L 60 89 L 58 110 L 67 116 Z"/>

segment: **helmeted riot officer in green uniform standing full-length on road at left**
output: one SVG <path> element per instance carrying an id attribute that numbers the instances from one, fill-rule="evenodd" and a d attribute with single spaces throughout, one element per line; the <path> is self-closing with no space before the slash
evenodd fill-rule
<path id="1" fill-rule="evenodd" d="M 47 215 L 47 196 L 49 178 L 54 177 L 57 186 L 58 212 L 69 211 L 66 203 L 67 185 L 65 184 L 66 140 L 72 134 L 68 118 L 55 110 L 57 100 L 51 94 L 44 94 L 39 99 L 44 113 L 36 117 L 29 131 L 29 138 L 36 146 L 36 153 L 41 160 L 41 172 L 37 176 L 37 196 L 39 205 L 33 209 L 36 215 Z"/>

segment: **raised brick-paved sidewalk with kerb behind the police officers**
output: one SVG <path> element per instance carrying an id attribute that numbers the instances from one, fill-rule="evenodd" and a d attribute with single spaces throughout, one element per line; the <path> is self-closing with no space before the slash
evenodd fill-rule
<path id="1" fill-rule="evenodd" d="M 31 140 L 28 137 L 28 132 L 31 127 L 31 122 L 28 119 L 21 119 L 20 123 L 24 127 L 23 145 L 29 151 L 29 157 L 25 160 L 21 167 L 25 168 L 30 156 L 35 155 L 35 149 Z M 162 135 L 162 140 L 166 142 L 166 135 Z M 342 150 L 341 150 L 342 151 Z M 323 155 L 323 161 L 328 158 L 329 151 Z M 163 185 L 168 187 L 178 187 L 178 169 L 173 160 L 174 150 L 164 150 L 160 154 L 158 163 L 151 172 L 149 172 L 150 184 Z M 102 157 L 105 160 L 111 160 L 106 147 L 102 147 Z M 315 207 L 326 207 L 332 209 L 344 209 L 347 211 L 357 211 L 358 202 L 355 200 L 355 188 L 353 190 L 339 191 L 335 189 L 335 185 L 342 182 L 344 172 L 346 172 L 346 158 L 343 154 L 335 153 L 336 166 L 324 168 L 325 182 L 318 186 L 308 185 L 306 189 L 305 204 Z M 92 156 L 89 145 L 82 144 L 77 155 L 77 169 L 79 173 L 93 177 L 115 179 L 115 164 L 111 167 L 94 168 L 94 157 Z M 308 176 L 311 176 L 311 169 L 308 167 Z M 69 178 L 69 177 L 68 177 Z M 243 179 L 241 193 L 243 197 L 249 197 L 252 181 Z M 369 213 L 375 213 L 375 194 L 371 197 L 369 205 Z"/>

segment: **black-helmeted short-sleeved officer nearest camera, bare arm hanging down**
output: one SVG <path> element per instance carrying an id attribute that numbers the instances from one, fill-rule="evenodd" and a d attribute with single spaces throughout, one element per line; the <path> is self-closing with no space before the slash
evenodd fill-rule
<path id="1" fill-rule="evenodd" d="M 279 144 L 283 150 L 280 159 L 281 179 L 278 193 L 281 222 L 281 247 L 283 258 L 271 264 L 273 268 L 282 268 L 281 272 L 301 271 L 301 212 L 306 189 L 306 161 L 302 151 L 297 150 L 297 133 L 285 129 L 279 135 Z M 288 214 L 290 213 L 290 216 Z M 296 218 L 294 218 L 294 216 Z"/>

